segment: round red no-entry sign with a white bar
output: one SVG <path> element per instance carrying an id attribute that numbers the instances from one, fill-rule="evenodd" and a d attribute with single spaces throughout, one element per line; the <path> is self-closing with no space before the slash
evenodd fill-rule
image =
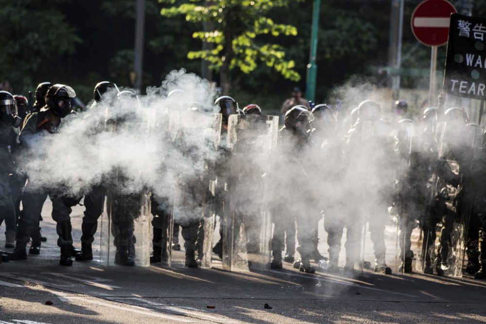
<path id="1" fill-rule="evenodd" d="M 442 46 L 447 43 L 451 14 L 456 12 L 446 0 L 422 1 L 412 14 L 412 32 L 424 45 Z"/>

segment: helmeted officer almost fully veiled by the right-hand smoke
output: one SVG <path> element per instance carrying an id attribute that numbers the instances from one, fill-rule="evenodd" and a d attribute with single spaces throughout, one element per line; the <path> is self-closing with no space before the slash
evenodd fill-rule
<path id="1" fill-rule="evenodd" d="M 391 274 L 391 269 L 385 262 L 384 234 L 388 219 L 387 207 L 392 203 L 390 193 L 394 170 L 391 166 L 397 164 L 394 162 L 396 155 L 393 146 L 388 142 L 386 130 L 389 126 L 382 120 L 380 105 L 365 100 L 358 108 L 358 121 L 348 135 L 350 174 L 354 181 L 359 179 L 355 195 L 360 197 L 358 204 L 361 210 L 355 211 L 358 213 L 356 221 L 361 222 L 362 226 L 369 222 L 376 258 L 375 272 Z M 373 191 L 368 188 L 373 188 Z"/>

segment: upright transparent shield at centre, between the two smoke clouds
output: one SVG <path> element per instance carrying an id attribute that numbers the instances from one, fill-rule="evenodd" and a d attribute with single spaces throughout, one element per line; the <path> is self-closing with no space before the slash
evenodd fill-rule
<path id="1" fill-rule="evenodd" d="M 270 159 L 276 147 L 278 117 L 231 115 L 228 121 L 227 208 L 223 217 L 223 268 L 229 271 L 270 266 L 272 218 Z"/>

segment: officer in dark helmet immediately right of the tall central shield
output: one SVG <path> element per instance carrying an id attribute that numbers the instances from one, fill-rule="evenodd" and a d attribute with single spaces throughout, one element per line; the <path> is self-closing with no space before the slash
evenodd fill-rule
<path id="1" fill-rule="evenodd" d="M 313 219 L 316 217 L 308 210 L 303 209 L 303 205 L 315 205 L 314 197 L 311 192 L 304 188 L 310 188 L 310 178 L 305 171 L 305 157 L 302 155 L 309 145 L 312 134 L 311 122 L 314 120 L 312 113 L 305 106 L 295 106 L 285 113 L 284 127 L 279 131 L 279 158 L 277 163 L 280 167 L 291 170 L 289 177 L 277 180 L 275 192 L 274 212 L 274 235 L 272 238 L 273 260 L 271 267 L 279 269 L 282 267 L 282 250 L 284 239 L 292 234 L 292 227 L 297 229 L 297 240 L 299 246 L 297 252 L 300 254 L 300 262 L 296 264 L 299 270 L 306 273 L 314 273 L 315 269 L 311 266 L 310 260 L 315 250 L 315 224 Z M 297 204 L 295 204 L 297 202 Z M 282 204 L 282 205 L 279 205 Z M 302 205 L 303 204 L 303 205 Z M 290 225 L 290 230 L 287 226 Z M 292 253 L 287 246 L 287 254 Z"/>

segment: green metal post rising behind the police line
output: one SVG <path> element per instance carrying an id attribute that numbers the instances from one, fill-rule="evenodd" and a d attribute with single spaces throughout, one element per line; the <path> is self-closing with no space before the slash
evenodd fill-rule
<path id="1" fill-rule="evenodd" d="M 311 50 L 309 53 L 309 64 L 307 65 L 306 98 L 315 101 L 315 86 L 317 78 L 317 32 L 319 31 L 319 12 L 321 0 L 314 0 L 314 10 L 312 17 Z"/>

